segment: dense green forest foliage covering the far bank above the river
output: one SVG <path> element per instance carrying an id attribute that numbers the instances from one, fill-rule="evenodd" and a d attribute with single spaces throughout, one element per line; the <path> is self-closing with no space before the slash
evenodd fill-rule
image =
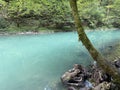
<path id="1" fill-rule="evenodd" d="M 84 27 L 120 27 L 120 0 L 78 0 L 77 4 Z M 0 0 L 0 17 L 19 28 L 74 27 L 68 0 Z"/>

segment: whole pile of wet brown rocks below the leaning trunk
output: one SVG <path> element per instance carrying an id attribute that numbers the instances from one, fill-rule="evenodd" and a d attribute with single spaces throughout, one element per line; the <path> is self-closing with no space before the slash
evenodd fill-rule
<path id="1" fill-rule="evenodd" d="M 119 68 L 120 58 L 114 62 L 114 65 Z M 67 72 L 73 73 L 76 69 L 79 69 L 79 72 L 70 77 L 68 81 L 62 81 L 68 88 L 72 87 L 68 90 L 120 90 L 120 86 L 112 83 L 112 77 L 97 66 L 96 62 L 90 65 L 88 69 L 80 65 L 80 68 L 74 67 Z"/>

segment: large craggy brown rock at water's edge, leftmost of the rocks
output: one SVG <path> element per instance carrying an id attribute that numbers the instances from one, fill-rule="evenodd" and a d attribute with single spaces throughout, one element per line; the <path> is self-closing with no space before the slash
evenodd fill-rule
<path id="1" fill-rule="evenodd" d="M 74 65 L 73 69 L 68 70 L 65 72 L 62 77 L 61 81 L 64 85 L 73 86 L 77 88 L 82 88 L 81 90 L 89 90 L 88 88 L 91 88 L 92 84 L 87 81 L 87 79 L 90 77 L 90 73 L 82 67 L 81 65 Z"/>

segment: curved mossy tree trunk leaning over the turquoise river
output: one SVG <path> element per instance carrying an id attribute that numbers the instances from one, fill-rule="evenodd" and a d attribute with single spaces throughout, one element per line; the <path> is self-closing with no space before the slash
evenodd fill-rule
<path id="1" fill-rule="evenodd" d="M 77 0 L 70 0 L 70 6 L 72 9 L 75 26 L 77 28 L 79 40 L 82 41 L 83 45 L 86 47 L 92 58 L 97 61 L 98 65 L 108 74 L 112 76 L 116 83 L 120 84 L 120 72 L 115 68 L 110 62 L 108 62 L 92 45 L 88 39 L 84 29 L 81 25 L 81 21 L 78 14 Z"/>

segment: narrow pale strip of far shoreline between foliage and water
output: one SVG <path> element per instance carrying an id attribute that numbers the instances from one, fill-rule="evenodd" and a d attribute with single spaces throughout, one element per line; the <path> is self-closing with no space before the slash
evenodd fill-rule
<path id="1" fill-rule="evenodd" d="M 108 31 L 108 30 L 119 30 L 118 28 L 98 28 L 98 29 L 87 29 L 85 31 Z M 40 27 L 37 30 L 35 28 L 9 28 L 9 29 L 0 29 L 0 35 L 31 35 L 31 34 L 49 34 L 56 32 L 72 32 L 76 31 L 75 28 L 64 28 L 64 29 L 55 29 L 55 28 L 45 28 Z"/>

